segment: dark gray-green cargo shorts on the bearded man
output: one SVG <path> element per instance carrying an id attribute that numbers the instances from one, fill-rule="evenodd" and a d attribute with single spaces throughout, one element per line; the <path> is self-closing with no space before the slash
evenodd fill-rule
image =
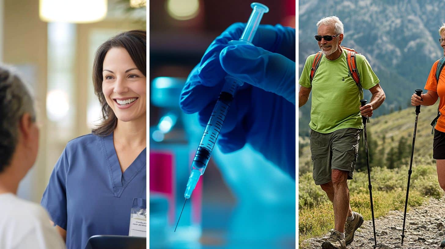
<path id="1" fill-rule="evenodd" d="M 324 134 L 311 129 L 312 177 L 316 185 L 332 181 L 332 169 L 348 171 L 348 180 L 352 179 L 361 131 L 346 128 Z"/>

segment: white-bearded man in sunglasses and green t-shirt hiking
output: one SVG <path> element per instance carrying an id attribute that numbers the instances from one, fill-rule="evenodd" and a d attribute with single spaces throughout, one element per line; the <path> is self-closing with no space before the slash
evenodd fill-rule
<path id="1" fill-rule="evenodd" d="M 306 104 L 313 90 L 309 123 L 313 178 L 334 206 L 335 228 L 321 245 L 324 249 L 345 249 L 363 223 L 363 217 L 353 212 L 349 204 L 347 180 L 352 179 L 358 156 L 363 129 L 360 114 L 372 116 L 385 99 L 368 60 L 340 46 L 343 38 L 343 23 L 337 16 L 318 21 L 315 39 L 321 51 L 307 57 L 299 78 L 299 107 Z M 347 58 L 351 54 L 356 60 L 352 70 Z M 363 89 L 368 89 L 372 98 L 360 107 Z"/>

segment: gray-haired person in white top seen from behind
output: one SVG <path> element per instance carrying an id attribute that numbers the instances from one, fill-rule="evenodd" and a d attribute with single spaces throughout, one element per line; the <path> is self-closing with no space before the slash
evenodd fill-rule
<path id="1" fill-rule="evenodd" d="M 39 129 L 34 100 L 11 69 L 0 65 L 0 248 L 65 248 L 38 204 L 16 197 L 36 161 Z"/>

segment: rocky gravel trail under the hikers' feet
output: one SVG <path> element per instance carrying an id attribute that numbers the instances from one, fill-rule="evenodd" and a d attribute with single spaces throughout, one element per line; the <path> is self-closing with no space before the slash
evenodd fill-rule
<path id="1" fill-rule="evenodd" d="M 445 239 L 445 198 L 431 198 L 424 205 L 413 207 L 406 214 L 405 239 L 401 246 L 403 210 L 390 211 L 376 218 L 376 249 L 441 249 Z M 305 249 L 320 249 L 330 233 L 322 238 L 311 238 L 301 245 Z M 372 221 L 364 221 L 357 229 L 354 241 L 348 249 L 372 249 L 374 233 Z"/>

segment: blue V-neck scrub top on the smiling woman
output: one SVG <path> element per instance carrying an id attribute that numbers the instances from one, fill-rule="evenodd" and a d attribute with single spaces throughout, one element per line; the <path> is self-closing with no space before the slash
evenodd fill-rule
<path id="1" fill-rule="evenodd" d="M 67 231 L 68 249 L 84 249 L 93 235 L 128 235 L 134 198 L 146 199 L 146 149 L 121 171 L 113 133 L 68 142 L 41 205 Z"/>

